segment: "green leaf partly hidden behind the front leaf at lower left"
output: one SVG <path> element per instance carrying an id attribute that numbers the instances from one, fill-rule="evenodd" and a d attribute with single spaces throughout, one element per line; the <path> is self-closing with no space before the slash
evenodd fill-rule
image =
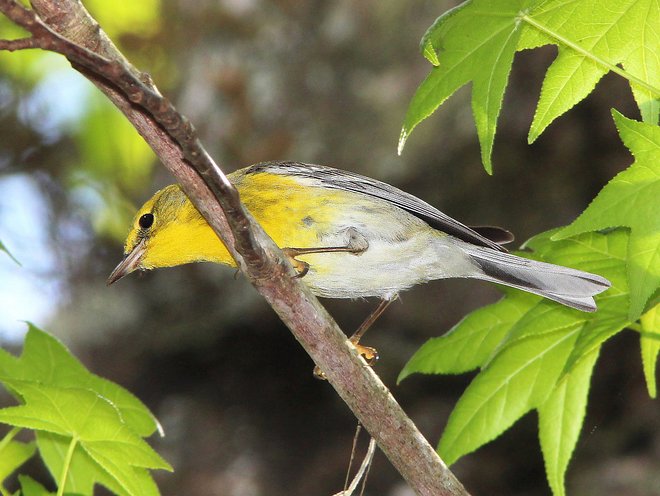
<path id="1" fill-rule="evenodd" d="M 57 339 L 32 324 L 28 326 L 20 358 L 0 348 L 0 382 L 18 379 L 94 390 L 118 409 L 126 424 L 137 434 L 149 436 L 159 427 L 154 415 L 134 395 L 92 374 Z"/>

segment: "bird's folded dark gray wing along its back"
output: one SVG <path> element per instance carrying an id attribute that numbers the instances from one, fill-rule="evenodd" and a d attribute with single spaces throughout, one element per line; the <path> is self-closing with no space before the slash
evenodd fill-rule
<path id="1" fill-rule="evenodd" d="M 304 177 L 320 182 L 322 186 L 327 188 L 353 191 L 380 198 L 422 219 L 434 229 L 446 232 L 468 243 L 485 246 L 493 250 L 506 251 L 496 241 L 506 242 L 512 239 L 511 234 L 504 229 L 496 227 L 476 228 L 484 233 L 489 233 L 489 237 L 495 238 L 496 241 L 489 239 L 475 229 L 452 219 L 437 208 L 405 191 L 354 172 L 301 162 L 263 162 L 253 165 L 245 171 L 246 174 L 258 172 Z"/>

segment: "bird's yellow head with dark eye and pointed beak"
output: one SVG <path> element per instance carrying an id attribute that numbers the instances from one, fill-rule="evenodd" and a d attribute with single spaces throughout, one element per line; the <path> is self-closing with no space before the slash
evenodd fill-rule
<path id="1" fill-rule="evenodd" d="M 124 246 L 124 260 L 108 284 L 135 270 L 191 262 L 235 265 L 222 241 L 178 184 L 158 191 L 138 211 Z"/>

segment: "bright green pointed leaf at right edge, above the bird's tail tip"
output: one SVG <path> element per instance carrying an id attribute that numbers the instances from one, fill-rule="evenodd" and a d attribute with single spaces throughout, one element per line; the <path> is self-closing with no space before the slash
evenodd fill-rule
<path id="1" fill-rule="evenodd" d="M 635 157 L 598 194 L 580 217 L 555 236 L 629 227 L 627 265 L 631 321 L 639 318 L 660 286 L 660 128 L 626 119 L 614 111 L 621 139 Z"/>

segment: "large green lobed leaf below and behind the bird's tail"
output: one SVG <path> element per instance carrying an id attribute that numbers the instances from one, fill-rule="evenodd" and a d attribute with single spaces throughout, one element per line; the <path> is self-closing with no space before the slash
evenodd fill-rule
<path id="1" fill-rule="evenodd" d="M 455 462 L 536 409 L 548 479 L 555 493 L 561 494 L 598 351 L 629 324 L 629 234 L 625 230 L 586 233 L 554 242 L 553 234 L 536 236 L 526 247 L 534 258 L 560 265 L 580 260 L 581 269 L 607 277 L 612 288 L 598 297 L 598 312 L 579 312 L 509 290 L 498 303 L 477 310 L 445 336 L 423 345 L 400 380 L 416 372 L 451 374 L 480 367 L 442 435 L 443 458 Z M 557 418 L 553 412 L 560 408 L 563 415 Z"/>

